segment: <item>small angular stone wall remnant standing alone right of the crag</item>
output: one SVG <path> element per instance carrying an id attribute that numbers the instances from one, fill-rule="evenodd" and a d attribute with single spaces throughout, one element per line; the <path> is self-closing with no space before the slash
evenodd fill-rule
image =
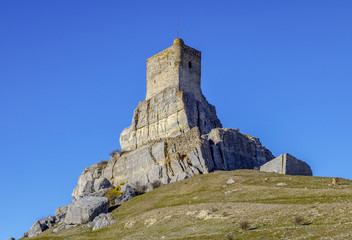
<path id="1" fill-rule="evenodd" d="M 263 172 L 275 172 L 288 175 L 312 176 L 309 165 L 292 155 L 285 153 L 260 167 Z"/>

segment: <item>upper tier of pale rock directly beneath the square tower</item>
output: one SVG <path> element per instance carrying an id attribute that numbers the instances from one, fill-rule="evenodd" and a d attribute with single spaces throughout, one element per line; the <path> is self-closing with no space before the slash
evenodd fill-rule
<path id="1" fill-rule="evenodd" d="M 120 135 L 120 145 L 122 151 L 130 151 L 151 141 L 179 136 L 196 126 L 201 134 L 221 127 L 215 107 L 204 97 L 198 101 L 191 94 L 166 88 L 138 104 L 132 125 Z"/>

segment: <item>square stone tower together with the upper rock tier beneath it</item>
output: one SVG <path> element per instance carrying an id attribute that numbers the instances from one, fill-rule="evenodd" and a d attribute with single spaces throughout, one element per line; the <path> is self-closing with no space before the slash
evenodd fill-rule
<path id="1" fill-rule="evenodd" d="M 120 135 L 123 151 L 198 127 L 200 134 L 221 127 L 215 107 L 200 88 L 201 53 L 176 38 L 171 47 L 147 60 L 147 94 L 132 125 Z"/>

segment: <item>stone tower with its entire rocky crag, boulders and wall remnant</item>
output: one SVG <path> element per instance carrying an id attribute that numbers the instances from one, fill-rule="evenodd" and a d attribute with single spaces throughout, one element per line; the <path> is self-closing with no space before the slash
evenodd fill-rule
<path id="1" fill-rule="evenodd" d="M 135 196 L 130 185 L 148 191 L 156 182 L 168 184 L 217 170 L 312 175 L 305 162 L 287 153 L 275 158 L 258 138 L 222 127 L 201 90 L 201 52 L 182 39 L 147 60 L 146 80 L 146 98 L 120 135 L 121 152 L 86 168 L 72 193 L 75 200 L 59 208 L 55 217 L 37 221 L 26 236 L 57 222 L 63 225 L 54 231 L 85 223 L 95 230 L 112 223 L 105 214 L 105 196 L 112 188 L 124 192 L 116 200 L 120 204 Z"/>

